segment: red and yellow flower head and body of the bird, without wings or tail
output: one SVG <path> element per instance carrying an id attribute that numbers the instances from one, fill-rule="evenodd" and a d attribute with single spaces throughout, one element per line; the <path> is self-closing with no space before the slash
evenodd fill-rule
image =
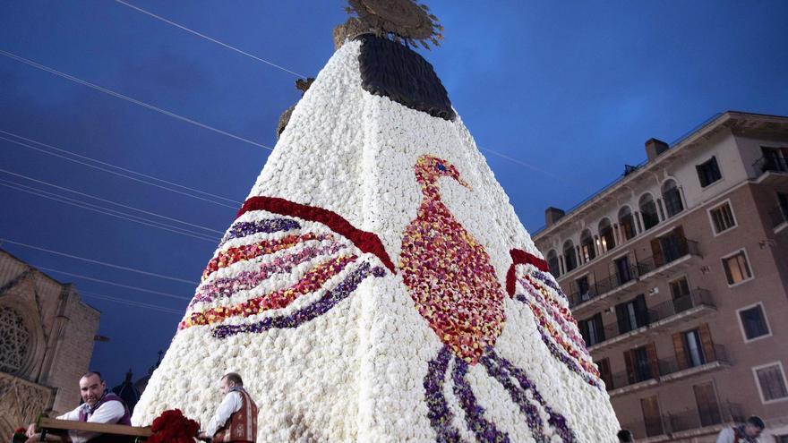
<path id="1" fill-rule="evenodd" d="M 399 271 L 419 313 L 451 351 L 475 364 L 501 335 L 503 291 L 490 256 L 441 201 L 438 180 L 470 189 L 446 160 L 422 156 L 415 164 L 423 194 L 418 215 L 402 238 Z"/>

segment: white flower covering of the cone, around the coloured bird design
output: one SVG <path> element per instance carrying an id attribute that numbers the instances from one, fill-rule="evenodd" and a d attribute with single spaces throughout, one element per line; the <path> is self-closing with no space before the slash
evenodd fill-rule
<path id="1" fill-rule="evenodd" d="M 280 197 L 336 212 L 356 228 L 377 234 L 391 260 L 398 263 L 403 234 L 422 199 L 415 181 L 415 161 L 423 155 L 443 158 L 457 167 L 471 189 L 441 179 L 442 201 L 484 246 L 504 290 L 512 248 L 541 258 L 506 193 L 459 118 L 446 121 L 365 92 L 359 74 L 359 48 L 359 42 L 348 42 L 317 76 L 295 107 L 250 197 Z M 265 211 L 252 211 L 238 221 L 270 216 Z M 319 223 L 297 221 L 301 232 L 330 232 Z M 215 256 L 229 248 L 286 235 L 278 232 L 232 239 L 221 245 Z M 338 254 L 355 252 L 362 254 L 360 260 L 381 266 L 372 254 L 363 254 L 352 243 L 339 240 L 347 248 Z M 220 268 L 202 285 L 236 276 L 292 251 Z M 318 261 L 306 261 L 290 273 L 272 275 L 262 285 L 228 298 L 194 302 L 187 316 L 295 285 Z M 524 268 L 528 267 L 518 266 L 518 275 Z M 348 272 L 345 269 L 331 277 L 323 288 L 335 287 Z M 304 294 L 285 308 L 246 319 L 227 319 L 224 324 L 287 314 L 307 306 L 326 290 Z M 520 284 L 518 293 L 522 293 Z M 565 300 L 562 302 L 566 307 Z M 554 358 L 525 303 L 507 295 L 505 314 L 495 353 L 527 372 L 547 405 L 566 417 L 576 441 L 615 441 L 619 425 L 604 388 L 591 386 Z M 221 339 L 211 335 L 211 328 L 179 330 L 136 406 L 135 424 L 150 425 L 162 411 L 180 408 L 204 426 L 220 400 L 218 379 L 228 371 L 237 371 L 260 408 L 258 441 L 436 439 L 425 404 L 424 377 L 427 362 L 435 358 L 442 344 L 416 310 L 398 273 L 387 271 L 384 277 L 364 279 L 333 309 L 298 328 L 271 328 Z M 577 332 L 574 325 L 572 328 Z M 443 393 L 454 416 L 453 425 L 461 437 L 475 441 L 450 388 L 453 364 Z M 510 441 L 535 441 L 518 406 L 481 364 L 469 367 L 467 380 L 478 404 L 484 407 L 484 417 L 508 433 Z M 544 408 L 540 414 L 547 420 Z M 560 441 L 555 435 L 551 439 Z"/>

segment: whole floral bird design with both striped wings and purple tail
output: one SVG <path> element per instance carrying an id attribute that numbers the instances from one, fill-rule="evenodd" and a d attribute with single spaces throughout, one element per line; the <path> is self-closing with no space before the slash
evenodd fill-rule
<path id="1" fill-rule="evenodd" d="M 424 401 L 436 441 L 464 441 L 457 427 L 461 421 L 445 396 L 446 384 L 476 441 L 510 441 L 485 416 L 468 381 L 467 372 L 479 363 L 509 393 L 536 442 L 576 441 L 566 418 L 548 405 L 527 371 L 495 350 L 508 294 L 533 313 L 535 328 L 556 360 L 588 384 L 604 389 L 566 295 L 547 272 L 547 263 L 527 251 L 511 249 L 504 291 L 484 245 L 441 200 L 441 177 L 473 192 L 458 168 L 424 155 L 415 160 L 414 172 L 422 200 L 403 234 L 398 266 L 377 234 L 356 228 L 328 209 L 277 197 L 244 201 L 205 268 L 179 329 L 209 326 L 213 337 L 224 339 L 298 328 L 354 294 L 365 279 L 399 273 L 416 309 L 443 344 L 427 362 L 424 376 Z M 281 278 L 288 274 L 300 277 L 295 283 Z M 262 287 L 266 290 L 261 292 Z M 291 306 L 304 299 L 307 302 Z"/>

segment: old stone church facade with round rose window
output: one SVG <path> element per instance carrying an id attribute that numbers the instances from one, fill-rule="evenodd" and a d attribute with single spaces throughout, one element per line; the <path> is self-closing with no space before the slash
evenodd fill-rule
<path id="1" fill-rule="evenodd" d="M 73 285 L 0 250 L 0 436 L 80 403 L 99 311 Z"/>

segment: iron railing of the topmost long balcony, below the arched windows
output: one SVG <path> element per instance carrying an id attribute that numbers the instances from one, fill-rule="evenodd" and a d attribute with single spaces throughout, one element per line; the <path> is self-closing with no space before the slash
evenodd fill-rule
<path id="1" fill-rule="evenodd" d="M 698 242 L 688 240 L 686 238 L 679 238 L 673 243 L 670 249 L 659 251 L 651 257 L 643 260 L 638 260 L 629 268 L 621 268 L 612 276 L 604 277 L 596 280 L 593 284 L 589 285 L 584 291 L 575 290 L 568 295 L 570 308 L 578 306 L 578 304 L 594 300 L 596 297 L 601 297 L 604 294 L 612 292 L 622 285 L 626 285 L 631 281 L 638 280 L 638 278 L 646 275 L 647 273 L 655 270 L 656 268 L 663 267 L 672 261 L 679 260 L 686 255 L 700 255 Z"/>

